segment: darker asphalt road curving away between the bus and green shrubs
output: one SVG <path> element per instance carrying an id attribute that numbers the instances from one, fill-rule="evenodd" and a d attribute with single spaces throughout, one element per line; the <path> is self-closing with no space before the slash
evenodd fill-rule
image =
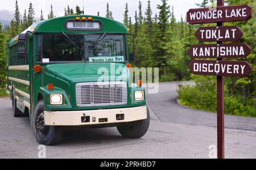
<path id="1" fill-rule="evenodd" d="M 193 84 L 193 82 L 184 83 Z M 178 82 L 160 83 L 158 94 L 147 95 L 148 104 L 160 121 L 216 127 L 216 113 L 203 112 L 177 104 L 177 84 Z M 256 118 L 225 115 L 225 128 L 256 131 Z"/>

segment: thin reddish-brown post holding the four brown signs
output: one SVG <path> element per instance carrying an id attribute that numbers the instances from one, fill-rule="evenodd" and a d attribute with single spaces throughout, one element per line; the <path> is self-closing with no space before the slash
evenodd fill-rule
<path id="1" fill-rule="evenodd" d="M 217 0 L 217 6 L 224 6 L 224 0 Z M 218 26 L 223 26 L 222 22 L 217 23 Z M 218 41 L 217 44 L 222 44 Z M 222 58 L 217 57 L 217 61 Z M 225 158 L 224 147 L 224 76 L 217 76 L 217 157 L 218 159 Z"/>

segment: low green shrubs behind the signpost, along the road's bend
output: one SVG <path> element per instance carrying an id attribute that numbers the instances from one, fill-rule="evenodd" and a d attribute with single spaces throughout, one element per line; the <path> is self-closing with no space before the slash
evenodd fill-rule
<path id="1" fill-rule="evenodd" d="M 194 109 L 216 112 L 216 78 L 194 76 L 195 85 L 179 85 L 178 94 L 181 104 Z M 225 113 L 237 116 L 256 117 L 255 97 L 242 100 L 240 95 L 230 95 L 225 88 Z"/>

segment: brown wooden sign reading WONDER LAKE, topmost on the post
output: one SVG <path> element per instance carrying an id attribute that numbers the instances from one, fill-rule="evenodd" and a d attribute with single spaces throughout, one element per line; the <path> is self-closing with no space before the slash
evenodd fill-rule
<path id="1" fill-rule="evenodd" d="M 253 11 L 249 5 L 197 8 L 187 12 L 187 22 L 190 24 L 204 24 L 246 21 L 251 18 L 252 13 Z"/>

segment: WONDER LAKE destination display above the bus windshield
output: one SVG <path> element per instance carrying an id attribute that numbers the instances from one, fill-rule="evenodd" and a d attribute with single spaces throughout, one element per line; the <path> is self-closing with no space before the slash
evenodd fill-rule
<path id="1" fill-rule="evenodd" d="M 67 29 L 79 29 L 79 30 L 86 30 L 86 29 L 100 29 L 99 22 L 67 22 Z"/>

